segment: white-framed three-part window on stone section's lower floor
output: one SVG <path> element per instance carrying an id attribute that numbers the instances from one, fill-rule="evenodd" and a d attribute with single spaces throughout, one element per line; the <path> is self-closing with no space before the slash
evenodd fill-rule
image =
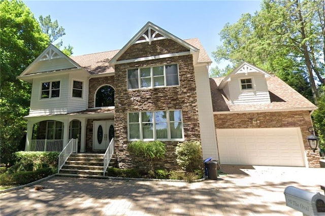
<path id="1" fill-rule="evenodd" d="M 128 140 L 183 140 L 182 111 L 128 113 Z"/>

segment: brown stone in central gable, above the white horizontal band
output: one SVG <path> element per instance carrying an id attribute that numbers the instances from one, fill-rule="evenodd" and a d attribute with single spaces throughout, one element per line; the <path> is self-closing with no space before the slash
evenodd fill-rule
<path id="1" fill-rule="evenodd" d="M 171 39 L 157 40 L 152 41 L 151 45 L 149 45 L 149 42 L 131 45 L 118 58 L 118 61 L 186 51 L 189 51 L 188 48 L 183 47 Z"/>

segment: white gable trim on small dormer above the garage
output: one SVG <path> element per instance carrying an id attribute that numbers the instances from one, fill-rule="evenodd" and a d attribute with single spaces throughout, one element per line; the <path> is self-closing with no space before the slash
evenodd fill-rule
<path id="1" fill-rule="evenodd" d="M 266 71 L 262 70 L 261 68 L 258 68 L 255 65 L 252 65 L 252 64 L 248 63 L 247 61 L 244 61 L 238 67 L 236 67 L 232 71 L 232 73 L 230 73 L 228 76 L 224 77 L 221 80 L 221 82 L 219 84 L 219 88 L 222 89 L 225 86 L 226 82 L 229 81 L 229 79 L 232 76 L 236 75 L 236 74 L 242 74 L 243 73 L 243 74 L 247 75 L 248 73 L 252 73 L 252 72 L 259 72 L 261 74 L 264 74 L 264 76 L 266 78 L 272 77 L 271 74 L 267 73 Z"/>

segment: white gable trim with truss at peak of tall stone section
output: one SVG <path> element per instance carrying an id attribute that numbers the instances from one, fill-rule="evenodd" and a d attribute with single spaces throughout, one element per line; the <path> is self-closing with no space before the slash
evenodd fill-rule
<path id="1" fill-rule="evenodd" d="M 188 48 L 190 53 L 196 53 L 199 50 L 193 47 L 189 43 L 176 37 L 174 34 L 166 31 L 163 28 L 153 24 L 152 22 L 147 22 L 141 29 L 134 35 L 134 37 L 125 44 L 125 46 L 109 61 L 109 63 L 114 66 L 117 63 L 117 59 L 133 44 L 161 40 L 161 39 L 172 39 L 173 41 L 181 44 L 182 46 Z"/>

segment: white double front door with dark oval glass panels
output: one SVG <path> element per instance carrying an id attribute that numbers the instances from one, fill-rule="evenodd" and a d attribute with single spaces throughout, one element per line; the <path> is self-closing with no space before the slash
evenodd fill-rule
<path id="1" fill-rule="evenodd" d="M 93 150 L 106 150 L 114 138 L 114 121 L 94 121 Z"/>

